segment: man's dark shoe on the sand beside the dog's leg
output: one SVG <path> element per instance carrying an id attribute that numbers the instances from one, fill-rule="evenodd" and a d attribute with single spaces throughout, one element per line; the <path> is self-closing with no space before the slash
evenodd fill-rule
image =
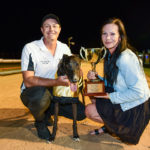
<path id="1" fill-rule="evenodd" d="M 45 139 L 45 140 L 50 139 L 51 134 L 50 134 L 44 121 L 36 121 L 34 125 L 37 129 L 37 133 L 38 133 L 39 138 Z"/>

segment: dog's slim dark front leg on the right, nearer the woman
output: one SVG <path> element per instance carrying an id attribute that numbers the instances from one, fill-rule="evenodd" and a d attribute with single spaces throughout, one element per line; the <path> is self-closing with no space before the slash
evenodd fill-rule
<path id="1" fill-rule="evenodd" d="M 72 104 L 73 110 L 73 139 L 75 141 L 80 141 L 78 131 L 77 131 L 77 104 Z"/>

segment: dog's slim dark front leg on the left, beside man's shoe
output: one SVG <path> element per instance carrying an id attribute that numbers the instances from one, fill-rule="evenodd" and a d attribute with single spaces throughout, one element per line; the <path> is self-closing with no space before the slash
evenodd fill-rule
<path id="1" fill-rule="evenodd" d="M 53 132 L 50 138 L 50 141 L 54 141 L 57 131 L 57 121 L 58 121 L 58 113 L 59 113 L 59 103 L 55 102 L 55 110 L 54 110 L 54 124 L 53 124 Z"/>

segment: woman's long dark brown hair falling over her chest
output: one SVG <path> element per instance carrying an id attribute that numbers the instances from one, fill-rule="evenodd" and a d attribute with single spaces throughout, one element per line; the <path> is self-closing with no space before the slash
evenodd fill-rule
<path id="1" fill-rule="evenodd" d="M 129 44 L 127 43 L 127 35 L 125 31 L 125 27 L 122 23 L 122 21 L 118 18 L 110 18 L 104 22 L 101 28 L 101 33 L 102 29 L 106 24 L 115 24 L 118 26 L 118 32 L 120 35 L 120 42 L 114 51 L 113 55 L 109 53 L 107 50 L 107 54 L 105 57 L 104 61 L 104 74 L 105 78 L 107 79 L 108 83 L 113 85 L 114 82 L 117 80 L 117 75 L 118 75 L 118 67 L 116 66 L 116 61 L 120 56 L 120 53 L 123 52 L 127 47 L 129 48 Z"/>

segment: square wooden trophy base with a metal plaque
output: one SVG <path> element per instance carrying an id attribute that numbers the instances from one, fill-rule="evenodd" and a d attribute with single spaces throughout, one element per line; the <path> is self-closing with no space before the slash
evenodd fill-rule
<path id="1" fill-rule="evenodd" d="M 105 86 L 103 81 L 85 80 L 84 96 L 105 96 Z"/>

